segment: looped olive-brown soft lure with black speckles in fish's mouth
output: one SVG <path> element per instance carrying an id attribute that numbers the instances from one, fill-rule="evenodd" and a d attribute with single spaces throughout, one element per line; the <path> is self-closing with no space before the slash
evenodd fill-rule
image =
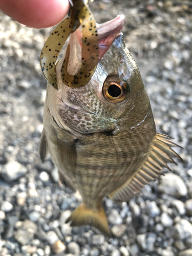
<path id="1" fill-rule="evenodd" d="M 71 16 L 63 20 L 51 33 L 40 54 L 42 72 L 55 89 L 57 77 L 55 72 L 56 60 L 68 39 L 79 26 L 82 27 L 82 63 L 75 75 L 67 70 L 70 46 L 61 68 L 62 81 L 69 87 L 79 88 L 86 85 L 92 78 L 99 60 L 97 27 L 93 14 L 82 0 L 73 0 Z"/>

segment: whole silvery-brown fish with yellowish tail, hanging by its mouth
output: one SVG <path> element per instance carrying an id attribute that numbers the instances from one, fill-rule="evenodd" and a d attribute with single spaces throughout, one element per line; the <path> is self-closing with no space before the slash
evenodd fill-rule
<path id="1" fill-rule="evenodd" d="M 96 24 L 99 60 L 89 82 L 69 87 L 63 60 L 74 75 L 82 65 L 82 26 L 71 33 L 56 65 L 57 89 L 48 82 L 39 155 L 48 152 L 60 177 L 78 190 L 82 203 L 68 218 L 72 226 L 93 225 L 111 236 L 102 199 L 129 201 L 167 163 L 180 156 L 170 137 L 156 132 L 150 99 L 138 66 L 125 46 L 124 15 Z M 70 47 L 69 47 L 70 46 Z M 68 50 L 70 49 L 70 51 Z"/>

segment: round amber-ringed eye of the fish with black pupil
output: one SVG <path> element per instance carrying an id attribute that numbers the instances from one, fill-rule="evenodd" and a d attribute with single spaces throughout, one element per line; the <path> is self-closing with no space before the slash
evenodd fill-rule
<path id="1" fill-rule="evenodd" d="M 121 81 L 117 76 L 106 78 L 102 88 L 103 96 L 112 103 L 118 103 L 126 99 L 130 93 L 130 88 L 125 81 Z"/>

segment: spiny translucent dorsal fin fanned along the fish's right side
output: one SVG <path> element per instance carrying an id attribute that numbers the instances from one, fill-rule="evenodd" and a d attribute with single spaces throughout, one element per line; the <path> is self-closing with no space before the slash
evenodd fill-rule
<path id="1" fill-rule="evenodd" d="M 168 140 L 170 137 L 157 133 L 150 155 L 142 164 L 141 168 L 120 188 L 109 195 L 114 201 L 127 201 L 135 194 L 140 193 L 141 188 L 150 181 L 159 180 L 159 175 L 163 174 L 163 168 L 170 170 L 167 163 L 175 163 L 172 157 L 182 158 L 172 150 L 172 147 L 180 147 L 176 143 Z"/>

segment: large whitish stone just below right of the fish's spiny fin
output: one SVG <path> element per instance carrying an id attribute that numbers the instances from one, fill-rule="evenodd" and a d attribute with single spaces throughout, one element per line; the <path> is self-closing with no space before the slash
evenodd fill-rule
<path id="1" fill-rule="evenodd" d="M 158 191 L 160 193 L 174 197 L 184 197 L 187 195 L 187 187 L 178 175 L 168 173 L 162 176 L 161 179 L 158 185 Z"/>

